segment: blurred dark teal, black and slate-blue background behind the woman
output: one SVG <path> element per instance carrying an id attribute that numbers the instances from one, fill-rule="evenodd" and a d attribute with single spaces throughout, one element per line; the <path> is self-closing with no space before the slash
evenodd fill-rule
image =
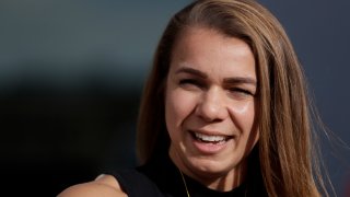
<path id="1" fill-rule="evenodd" d="M 0 1 L 0 173 L 11 196 L 56 196 L 137 165 L 142 84 L 168 19 L 189 2 Z M 259 2 L 285 27 L 324 123 L 349 146 L 350 2 Z M 350 196 L 350 150 L 330 138 L 325 163 L 338 196 Z"/>

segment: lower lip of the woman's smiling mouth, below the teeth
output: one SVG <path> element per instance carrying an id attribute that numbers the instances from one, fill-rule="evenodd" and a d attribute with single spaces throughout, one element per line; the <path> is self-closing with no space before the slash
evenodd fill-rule
<path id="1" fill-rule="evenodd" d="M 196 147 L 196 149 L 203 154 L 215 154 L 219 153 L 220 151 L 222 151 L 226 146 L 228 142 L 231 139 L 224 141 L 224 142 L 220 142 L 220 143 L 210 143 L 210 142 L 202 142 L 199 141 L 198 139 L 196 139 L 192 135 L 191 135 L 191 141 L 192 144 Z"/>

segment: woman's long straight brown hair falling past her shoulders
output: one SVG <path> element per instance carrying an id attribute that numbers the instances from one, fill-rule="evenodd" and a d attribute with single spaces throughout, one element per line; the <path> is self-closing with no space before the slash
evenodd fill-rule
<path id="1" fill-rule="evenodd" d="M 328 196 L 313 159 L 305 79 L 278 20 L 252 0 L 198 0 L 175 14 L 158 46 L 138 123 L 138 154 L 147 162 L 167 150 L 164 91 L 174 43 L 189 26 L 245 40 L 256 59 L 260 172 L 269 196 Z M 314 162 L 314 163 L 313 163 Z"/>

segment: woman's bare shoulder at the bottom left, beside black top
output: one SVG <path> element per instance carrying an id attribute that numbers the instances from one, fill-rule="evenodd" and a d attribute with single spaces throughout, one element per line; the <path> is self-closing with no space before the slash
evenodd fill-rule
<path id="1" fill-rule="evenodd" d="M 96 179 L 88 183 L 73 185 L 61 192 L 58 197 L 126 197 L 119 183 L 112 175 L 101 175 Z"/>

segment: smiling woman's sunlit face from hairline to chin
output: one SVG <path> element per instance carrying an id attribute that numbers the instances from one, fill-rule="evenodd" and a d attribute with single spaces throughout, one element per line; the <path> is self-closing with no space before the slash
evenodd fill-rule
<path id="1" fill-rule="evenodd" d="M 202 27 L 186 30 L 172 54 L 165 118 L 170 155 L 196 179 L 242 175 L 258 140 L 255 59 L 242 39 Z"/>

